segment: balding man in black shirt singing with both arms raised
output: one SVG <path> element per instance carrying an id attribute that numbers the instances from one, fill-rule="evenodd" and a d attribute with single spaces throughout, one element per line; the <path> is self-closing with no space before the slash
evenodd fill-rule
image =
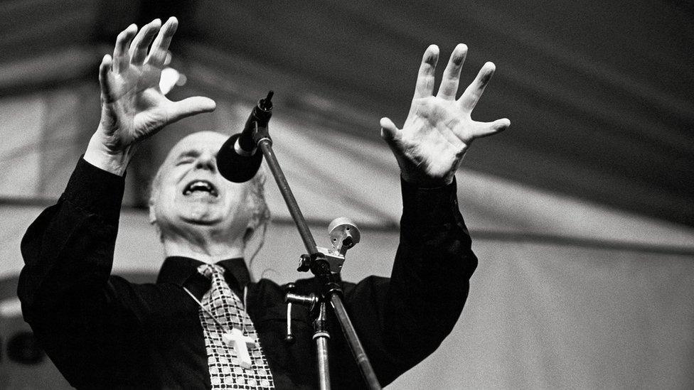
<path id="1" fill-rule="evenodd" d="M 215 109 L 205 97 L 171 102 L 158 81 L 177 21 L 119 34 L 100 66 L 102 117 L 58 204 L 29 227 L 19 286 L 23 314 L 46 352 L 78 388 L 313 389 L 310 315 L 290 313 L 284 288 L 252 281 L 248 237 L 267 217 L 262 175 L 230 183 L 215 155 L 226 136 L 193 134 L 174 146 L 154 179 L 150 220 L 166 260 L 156 283 L 111 276 L 128 162 L 139 141 L 173 121 Z M 151 48 L 150 48 L 151 43 Z M 476 267 L 456 200 L 454 173 L 474 139 L 508 119 L 471 120 L 494 67 L 456 99 L 466 46 L 458 45 L 434 95 L 438 48 L 427 48 L 402 129 L 381 134 L 402 175 L 400 246 L 390 278 L 343 283 L 344 298 L 380 383 L 433 352 L 457 322 Z M 311 279 L 297 292 L 312 291 Z M 363 381 L 340 331 L 330 340 L 331 381 Z"/>

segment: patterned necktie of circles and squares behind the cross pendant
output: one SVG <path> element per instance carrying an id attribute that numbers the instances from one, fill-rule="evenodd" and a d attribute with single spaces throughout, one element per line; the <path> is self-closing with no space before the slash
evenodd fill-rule
<path id="1" fill-rule="evenodd" d="M 242 301 L 224 280 L 224 269 L 216 264 L 203 264 L 198 267 L 198 272 L 212 280 L 212 287 L 203 296 L 202 304 L 223 325 L 220 327 L 201 308 L 199 315 L 205 334 L 212 389 L 274 389 L 255 327 Z M 257 343 L 257 347 L 249 348 L 251 367 L 248 369 L 241 367 L 235 348 L 223 341 L 223 334 L 233 328 L 241 330 L 243 335 Z"/>

